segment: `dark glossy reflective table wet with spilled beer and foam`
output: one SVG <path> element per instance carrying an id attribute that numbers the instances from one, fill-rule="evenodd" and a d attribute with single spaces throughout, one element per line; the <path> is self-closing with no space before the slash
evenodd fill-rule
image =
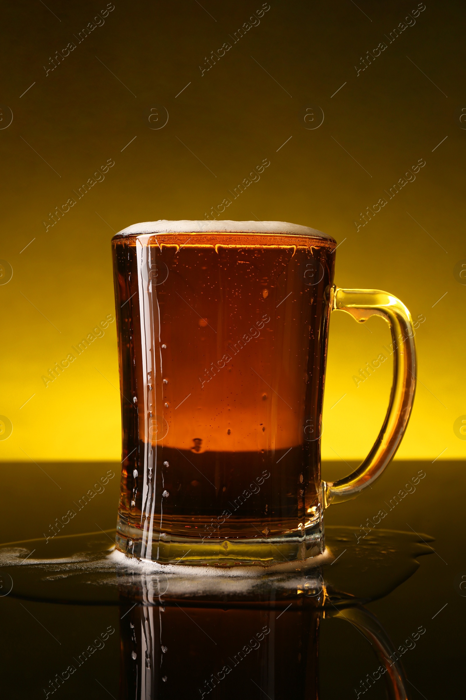
<path id="1" fill-rule="evenodd" d="M 8 698 L 460 697 L 464 466 L 395 462 L 326 512 L 325 555 L 244 572 L 115 552 L 117 477 L 67 518 L 118 465 L 3 465 L 2 687 Z"/>

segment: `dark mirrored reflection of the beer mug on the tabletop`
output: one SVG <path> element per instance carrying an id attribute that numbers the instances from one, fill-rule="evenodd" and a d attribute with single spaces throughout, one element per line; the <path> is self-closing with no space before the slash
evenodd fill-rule
<path id="1" fill-rule="evenodd" d="M 119 699 L 317 700 L 323 592 L 301 597 L 275 608 L 270 603 L 207 608 L 194 601 L 120 608 Z M 377 618 L 359 605 L 333 606 L 329 614 L 346 619 L 371 643 L 377 654 L 374 678 L 381 679 L 388 697 L 407 700 L 400 653 Z M 356 694 L 370 685 L 361 681 Z"/>

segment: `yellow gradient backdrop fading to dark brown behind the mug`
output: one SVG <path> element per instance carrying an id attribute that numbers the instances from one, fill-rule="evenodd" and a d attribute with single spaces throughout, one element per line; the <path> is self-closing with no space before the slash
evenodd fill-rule
<path id="1" fill-rule="evenodd" d="M 78 41 L 105 6 L 59 1 L 50 11 L 18 1 L 3 13 L 0 50 L 10 69 L 0 127 L 6 107 L 13 122 L 0 129 L 0 258 L 13 277 L 0 285 L 0 414 L 13 433 L 0 441 L 0 460 L 120 458 L 115 323 L 54 382 L 45 387 L 41 377 L 115 313 L 114 232 L 139 221 L 205 218 L 265 158 L 261 179 L 221 218 L 328 232 L 340 244 L 338 286 L 386 290 L 425 318 L 398 458 L 464 458 L 466 441 L 453 430 L 466 414 L 466 286 L 454 274 L 466 258 L 466 96 L 456 54 L 464 6 L 427 3 L 390 43 L 415 1 L 365 2 L 361 11 L 346 0 L 270 0 L 256 14 L 260 23 L 234 43 L 260 0 L 115 1 Z M 73 51 L 46 73 L 70 42 Z M 231 48 L 202 73 L 226 42 Z M 386 49 L 363 71 L 362 57 L 381 42 Z M 155 129 L 161 106 L 168 123 Z M 319 109 L 323 123 L 307 128 L 309 115 L 321 121 Z M 419 159 L 416 179 L 389 200 L 386 190 Z M 78 199 L 73 190 L 109 160 L 105 179 Z M 70 197 L 76 204 L 46 230 L 43 222 Z M 386 206 L 357 229 L 381 197 Z M 363 458 L 370 449 L 391 361 L 357 387 L 353 377 L 389 342 L 381 319 L 359 325 L 333 314 L 323 458 Z"/>

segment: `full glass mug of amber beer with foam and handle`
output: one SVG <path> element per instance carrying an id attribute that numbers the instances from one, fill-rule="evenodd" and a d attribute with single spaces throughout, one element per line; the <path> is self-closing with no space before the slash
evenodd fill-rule
<path id="1" fill-rule="evenodd" d="M 333 286 L 335 241 L 305 226 L 156 221 L 130 226 L 112 246 L 124 458 L 117 547 L 228 565 L 322 552 L 323 509 L 377 478 L 407 426 L 416 372 L 407 308 L 386 292 Z M 370 454 L 326 483 L 321 417 L 335 309 L 388 321 L 394 374 Z"/>

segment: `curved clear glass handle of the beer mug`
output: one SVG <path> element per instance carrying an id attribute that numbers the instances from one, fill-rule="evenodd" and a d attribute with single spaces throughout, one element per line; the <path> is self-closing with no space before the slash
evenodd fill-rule
<path id="1" fill-rule="evenodd" d="M 332 288 L 331 311 L 346 311 L 363 323 L 382 316 L 390 325 L 393 342 L 393 384 L 384 424 L 361 466 L 343 479 L 322 482 L 324 507 L 355 498 L 381 475 L 401 442 L 416 390 L 416 349 L 412 318 L 405 304 L 378 289 Z"/>

